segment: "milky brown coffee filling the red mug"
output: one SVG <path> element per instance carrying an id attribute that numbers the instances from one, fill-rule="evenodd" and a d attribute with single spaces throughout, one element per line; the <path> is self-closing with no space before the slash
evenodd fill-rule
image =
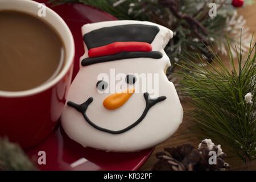
<path id="1" fill-rule="evenodd" d="M 59 34 L 42 18 L 0 11 L 0 90 L 36 88 L 56 77 L 65 60 Z"/>

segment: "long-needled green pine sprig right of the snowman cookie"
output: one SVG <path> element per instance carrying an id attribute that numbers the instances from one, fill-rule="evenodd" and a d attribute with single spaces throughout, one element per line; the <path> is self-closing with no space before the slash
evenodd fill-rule
<path id="1" fill-rule="evenodd" d="M 240 40 L 241 42 L 242 40 Z M 229 41 L 228 41 L 229 43 Z M 188 112 L 195 122 L 196 131 L 229 147 L 248 165 L 256 157 L 256 52 L 250 42 L 249 53 L 245 56 L 241 45 L 236 48 L 237 61 L 229 46 L 229 63 L 232 71 L 224 65 L 212 49 L 214 64 L 205 66 L 184 61 L 180 64 L 187 73 L 180 73 L 184 94 L 191 97 L 195 109 Z M 251 92 L 251 103 L 245 95 Z"/>

